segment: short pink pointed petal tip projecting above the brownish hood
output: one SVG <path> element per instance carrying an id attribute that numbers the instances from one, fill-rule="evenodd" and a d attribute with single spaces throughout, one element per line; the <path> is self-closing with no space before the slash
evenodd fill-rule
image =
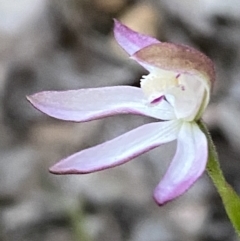
<path id="1" fill-rule="evenodd" d="M 141 48 L 154 43 L 160 43 L 157 39 L 144 34 L 137 33 L 116 19 L 114 20 L 114 36 L 118 44 L 129 54 L 132 55 Z"/>

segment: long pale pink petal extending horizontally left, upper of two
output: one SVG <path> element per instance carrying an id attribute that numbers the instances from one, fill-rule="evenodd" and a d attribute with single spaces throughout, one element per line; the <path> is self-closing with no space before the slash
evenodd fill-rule
<path id="1" fill-rule="evenodd" d="M 131 86 L 44 91 L 27 98 L 43 113 L 68 121 L 85 122 L 117 114 L 175 118 L 173 108 L 166 101 L 150 105 L 142 90 Z"/>

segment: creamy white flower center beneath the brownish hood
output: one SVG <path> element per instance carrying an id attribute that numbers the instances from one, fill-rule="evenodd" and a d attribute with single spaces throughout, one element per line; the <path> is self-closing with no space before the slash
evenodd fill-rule
<path id="1" fill-rule="evenodd" d="M 177 119 L 186 121 L 198 116 L 205 98 L 205 87 L 198 77 L 161 69 L 143 76 L 141 88 L 150 103 L 156 104 L 165 97 Z"/>

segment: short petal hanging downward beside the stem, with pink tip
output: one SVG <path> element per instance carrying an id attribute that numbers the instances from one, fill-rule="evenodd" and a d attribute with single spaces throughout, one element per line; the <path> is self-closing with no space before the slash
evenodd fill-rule
<path id="1" fill-rule="evenodd" d="M 155 201 L 163 205 L 183 194 L 202 175 L 207 158 L 206 136 L 196 123 L 184 123 L 177 138 L 177 152 L 154 191 Z"/>

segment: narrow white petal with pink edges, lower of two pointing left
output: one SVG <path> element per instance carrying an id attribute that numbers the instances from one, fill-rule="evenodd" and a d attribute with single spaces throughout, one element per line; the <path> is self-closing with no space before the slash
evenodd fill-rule
<path id="1" fill-rule="evenodd" d="M 80 151 L 54 165 L 55 174 L 84 174 L 121 165 L 161 144 L 176 139 L 181 122 L 143 125 L 111 141 Z"/>

